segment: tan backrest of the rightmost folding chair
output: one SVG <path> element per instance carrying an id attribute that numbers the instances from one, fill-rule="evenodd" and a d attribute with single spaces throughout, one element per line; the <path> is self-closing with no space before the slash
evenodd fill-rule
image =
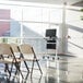
<path id="1" fill-rule="evenodd" d="M 22 54 L 26 54 L 26 55 L 34 54 L 32 50 L 33 49 L 32 46 L 28 44 L 22 44 L 19 47 Z"/>

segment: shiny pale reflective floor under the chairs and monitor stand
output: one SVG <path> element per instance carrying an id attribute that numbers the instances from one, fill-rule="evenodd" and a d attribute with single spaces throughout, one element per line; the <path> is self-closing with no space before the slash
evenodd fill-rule
<path id="1" fill-rule="evenodd" d="M 56 63 L 57 62 L 57 63 Z M 83 58 L 59 56 L 59 60 L 40 61 L 43 75 L 38 70 L 34 70 L 26 80 L 17 78 L 11 79 L 10 83 L 83 83 Z M 26 70 L 23 69 L 26 76 Z M 0 73 L 0 83 L 9 83 L 7 76 Z"/>

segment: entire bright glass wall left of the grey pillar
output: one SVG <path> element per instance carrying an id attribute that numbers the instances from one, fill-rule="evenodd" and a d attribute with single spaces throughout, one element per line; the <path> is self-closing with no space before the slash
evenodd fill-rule
<path id="1" fill-rule="evenodd" d="M 2 13 L 3 11 L 3 13 Z M 62 19 L 61 7 L 49 4 L 0 3 L 1 43 L 28 43 L 38 51 L 46 49 L 46 29 L 59 27 Z M 3 24 L 5 23 L 5 24 Z M 2 26 L 3 24 L 3 26 Z M 37 47 L 38 46 L 38 47 Z"/>

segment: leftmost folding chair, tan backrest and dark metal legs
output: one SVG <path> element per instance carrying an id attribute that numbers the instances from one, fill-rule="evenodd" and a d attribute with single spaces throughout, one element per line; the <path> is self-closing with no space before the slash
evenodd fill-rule
<path id="1" fill-rule="evenodd" d="M 16 71 L 19 71 L 22 74 L 22 71 L 20 70 L 19 63 L 21 60 L 16 59 L 11 46 L 9 44 L 0 44 L 0 63 L 4 63 L 5 68 L 4 71 L 9 73 L 9 79 L 11 78 L 13 66 L 15 67 Z M 9 70 L 9 64 L 11 64 L 11 69 Z"/>

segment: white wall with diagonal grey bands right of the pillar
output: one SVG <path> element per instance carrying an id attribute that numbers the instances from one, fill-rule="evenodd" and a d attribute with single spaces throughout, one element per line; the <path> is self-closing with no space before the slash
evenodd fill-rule
<path id="1" fill-rule="evenodd" d="M 68 35 L 68 54 L 76 57 L 83 57 L 83 21 L 81 21 L 83 12 L 75 10 L 67 11 L 67 28 Z"/>

